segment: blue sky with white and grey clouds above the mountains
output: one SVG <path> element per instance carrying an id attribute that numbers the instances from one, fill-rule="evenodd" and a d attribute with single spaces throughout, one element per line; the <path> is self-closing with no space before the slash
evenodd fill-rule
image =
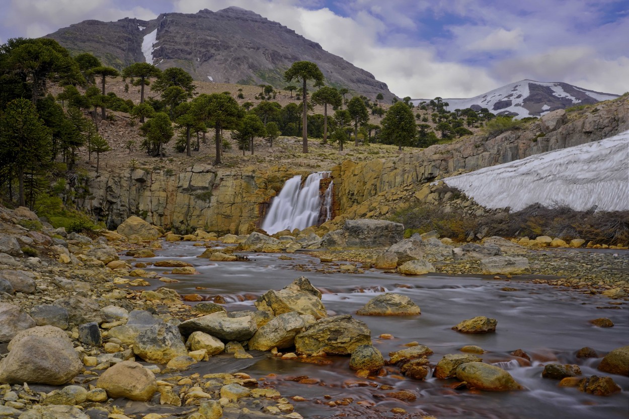
<path id="1" fill-rule="evenodd" d="M 228 6 L 288 26 L 400 97 L 472 97 L 522 79 L 629 90 L 629 0 L 0 0 L 0 43 Z"/>

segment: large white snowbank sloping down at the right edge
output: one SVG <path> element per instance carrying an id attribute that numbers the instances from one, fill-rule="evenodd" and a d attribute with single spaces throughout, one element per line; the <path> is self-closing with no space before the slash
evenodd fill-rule
<path id="1" fill-rule="evenodd" d="M 487 208 L 629 210 L 629 131 L 443 179 Z"/>

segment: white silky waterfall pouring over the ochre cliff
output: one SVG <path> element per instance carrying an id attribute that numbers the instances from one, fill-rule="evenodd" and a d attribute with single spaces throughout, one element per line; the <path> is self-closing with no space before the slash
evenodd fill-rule
<path id="1" fill-rule="evenodd" d="M 320 192 L 321 179 L 329 177 L 330 172 L 318 171 L 309 175 L 303 185 L 299 175 L 287 180 L 279 195 L 272 200 L 262 229 L 275 234 L 282 230 L 303 230 L 329 220 L 332 207 L 331 180 L 325 192 Z"/>

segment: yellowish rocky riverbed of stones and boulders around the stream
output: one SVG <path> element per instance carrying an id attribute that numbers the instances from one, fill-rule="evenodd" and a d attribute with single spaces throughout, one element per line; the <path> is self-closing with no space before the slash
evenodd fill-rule
<path id="1" fill-rule="evenodd" d="M 605 298 L 604 308 L 625 310 L 629 301 L 626 249 L 521 246 L 497 237 L 456 244 L 434 234 L 402 239 L 396 223 L 387 222 L 357 223 L 346 231 L 316 238 L 307 232 L 276 238 L 253 233 L 224 236 L 221 242 L 203 231 L 163 236 L 163 231 L 141 220 L 128 221 L 118 232 L 90 238 L 54 230 L 26 209 L 0 209 L 0 417 L 300 418 L 316 416 L 299 413 L 312 412 L 315 402 L 321 410 L 325 408 L 326 416 L 428 417 L 411 408 L 416 391 L 397 388 L 394 381 L 419 383 L 434 374 L 445 380 L 443 388 L 470 388 L 471 394 L 524 387 L 518 383 L 521 378 L 479 361 L 484 351 L 478 347 L 447 354 L 433 364 L 428 359 L 433 351 L 418 342 L 406 342 L 407 349 L 383 356 L 374 344 L 394 336 L 373 336 L 362 320 L 349 314 L 328 315 L 320 291 L 306 278 L 255 296 L 252 310 L 228 313 L 220 304 L 198 303 L 198 298 L 189 297 L 191 293 L 179 295 L 169 288 L 175 284 L 174 276 L 196 273 L 192 264 L 177 258 L 153 264 L 169 269 L 168 275 L 155 273 L 145 262 L 120 258 L 128 253 L 150 259 L 151 254 L 160 253 L 164 239 L 194 241 L 208 249 L 205 254 L 215 263 L 230 263 L 239 256 L 242 260 L 241 249 L 278 253 L 284 259 L 295 251 L 308 251 L 304 248 L 338 249 L 309 250 L 320 262 L 289 265 L 306 272 L 305 276 L 321 272 L 360 278 L 361 273 L 379 269 L 395 275 L 404 271 L 409 277 L 427 271 L 501 280 L 526 278 Z M 379 242 L 376 249 L 357 248 L 369 246 L 369 237 L 388 237 L 388 242 Z M 234 246 L 225 248 L 228 243 Z M 155 281 L 163 286 L 149 286 Z M 381 294 L 360 314 L 418 315 L 419 308 L 402 297 Z M 496 333 L 495 319 L 476 315 L 469 313 L 467 323 L 452 326 L 462 333 Z M 604 319 L 596 320 L 596 327 L 610 326 Z M 583 350 L 580 359 L 603 355 Z M 560 362 L 547 374 L 560 379 L 562 386 L 576 386 L 584 393 L 625 394 L 627 352 L 626 346 L 620 347 L 604 357 L 600 376 L 582 376 Z M 376 404 L 372 401 L 333 396 L 331 384 L 319 378 L 287 376 L 282 371 L 242 372 L 263 359 L 324 366 L 340 362 L 339 356 L 350 358 L 343 388 L 374 388 L 379 397 L 401 404 L 372 409 Z M 524 352 L 513 359 L 524 364 L 531 361 Z M 303 409 L 307 398 L 294 391 L 285 397 L 278 390 L 284 388 L 280 381 L 304 389 L 327 385 L 331 395 L 310 400 L 310 407 Z M 350 409 L 343 410 L 344 406 Z"/>

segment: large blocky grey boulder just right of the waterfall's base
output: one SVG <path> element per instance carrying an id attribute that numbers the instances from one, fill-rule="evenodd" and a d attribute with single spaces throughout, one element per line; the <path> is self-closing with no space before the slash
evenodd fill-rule
<path id="1" fill-rule="evenodd" d="M 336 248 L 389 247 L 404 238 L 404 226 L 386 220 L 345 220 L 343 228 L 328 232 L 321 239 L 321 246 Z"/>

